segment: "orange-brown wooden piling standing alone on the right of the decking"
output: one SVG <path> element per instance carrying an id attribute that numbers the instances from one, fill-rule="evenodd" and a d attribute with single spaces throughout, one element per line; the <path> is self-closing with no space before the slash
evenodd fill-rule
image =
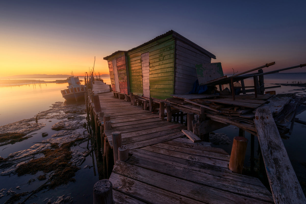
<path id="1" fill-rule="evenodd" d="M 229 169 L 234 173 L 242 173 L 247 144 L 248 139 L 245 137 L 234 137 L 229 164 Z"/>

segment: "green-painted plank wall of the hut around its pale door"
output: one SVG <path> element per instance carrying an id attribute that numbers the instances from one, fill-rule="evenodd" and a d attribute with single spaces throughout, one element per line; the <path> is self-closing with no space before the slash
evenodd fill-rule
<path id="1" fill-rule="evenodd" d="M 141 54 L 149 52 L 150 96 L 165 99 L 174 93 L 174 46 L 172 35 L 126 53 L 130 91 L 142 95 Z"/>

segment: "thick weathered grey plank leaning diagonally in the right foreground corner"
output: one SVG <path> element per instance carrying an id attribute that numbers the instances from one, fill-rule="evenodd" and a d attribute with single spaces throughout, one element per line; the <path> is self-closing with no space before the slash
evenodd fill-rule
<path id="1" fill-rule="evenodd" d="M 254 123 L 274 202 L 306 203 L 268 106 L 256 110 Z"/>

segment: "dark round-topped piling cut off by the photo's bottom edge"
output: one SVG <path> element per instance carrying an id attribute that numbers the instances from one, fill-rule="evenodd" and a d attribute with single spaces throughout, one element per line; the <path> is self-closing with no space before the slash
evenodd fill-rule
<path id="1" fill-rule="evenodd" d="M 99 180 L 95 183 L 94 204 L 115 204 L 113 199 L 113 185 L 108 179 Z"/>

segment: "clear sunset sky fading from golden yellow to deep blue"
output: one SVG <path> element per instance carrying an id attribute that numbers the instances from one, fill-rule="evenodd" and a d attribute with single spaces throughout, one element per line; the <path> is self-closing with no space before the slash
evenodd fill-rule
<path id="1" fill-rule="evenodd" d="M 108 74 L 103 57 L 174 30 L 224 73 L 306 63 L 306 1 L 0 1 L 0 77 Z M 294 69 L 290 72 L 306 72 Z"/>

